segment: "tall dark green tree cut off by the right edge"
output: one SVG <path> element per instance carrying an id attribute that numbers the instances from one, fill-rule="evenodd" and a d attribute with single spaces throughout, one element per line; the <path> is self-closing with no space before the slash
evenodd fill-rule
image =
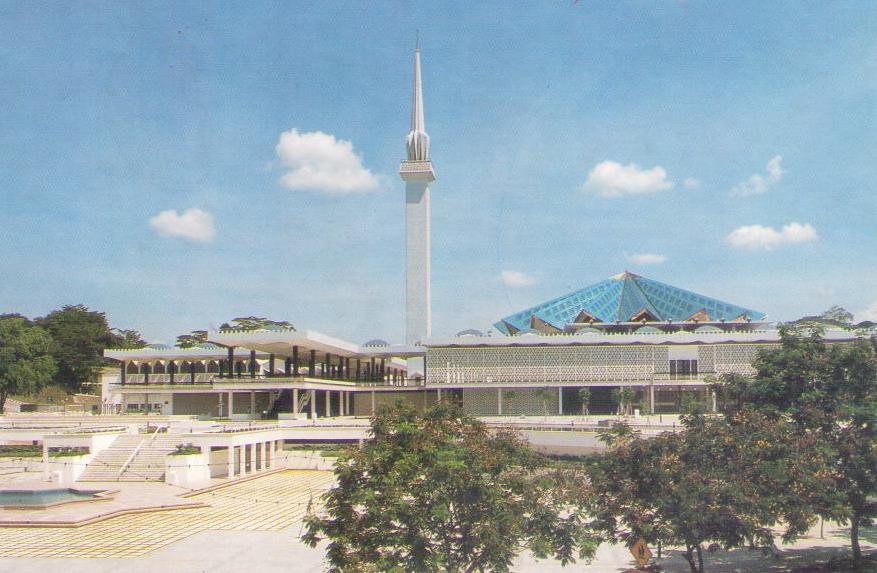
<path id="1" fill-rule="evenodd" d="M 818 332 L 781 330 L 781 346 L 763 352 L 752 378 L 720 386 L 733 421 L 757 409 L 788 433 L 806 439 L 814 459 L 800 485 L 802 511 L 850 524 L 854 567 L 860 568 L 859 529 L 874 517 L 877 495 L 877 341 L 826 344 Z M 826 479 L 830 478 L 830 479 Z"/>

